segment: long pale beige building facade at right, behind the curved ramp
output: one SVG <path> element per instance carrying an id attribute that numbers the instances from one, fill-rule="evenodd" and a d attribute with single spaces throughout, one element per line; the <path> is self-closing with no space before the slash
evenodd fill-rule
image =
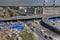
<path id="1" fill-rule="evenodd" d="M 46 7 L 43 9 L 43 14 L 60 14 L 60 7 Z"/>

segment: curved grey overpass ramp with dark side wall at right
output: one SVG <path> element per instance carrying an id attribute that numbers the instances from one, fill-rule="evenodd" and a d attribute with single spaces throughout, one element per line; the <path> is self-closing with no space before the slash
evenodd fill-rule
<path id="1" fill-rule="evenodd" d="M 60 35 L 60 26 L 55 24 L 53 25 L 53 20 L 48 20 L 49 18 L 52 18 L 52 17 L 60 17 L 60 14 L 57 14 L 57 15 L 48 15 L 48 16 L 45 16 L 42 18 L 42 21 L 40 22 L 42 26 L 50 29 L 51 31 L 57 33 Z"/>

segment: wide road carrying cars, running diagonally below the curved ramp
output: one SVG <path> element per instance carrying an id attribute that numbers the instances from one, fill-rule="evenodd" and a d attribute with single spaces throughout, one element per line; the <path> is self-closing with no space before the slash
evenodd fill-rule
<path id="1" fill-rule="evenodd" d="M 47 29 L 45 27 L 43 27 L 39 23 L 38 20 L 37 20 L 37 23 L 36 23 L 36 21 L 34 21 L 34 22 L 31 21 L 31 22 L 28 22 L 27 25 L 28 25 L 28 27 L 30 27 L 30 29 L 33 32 L 35 32 L 41 38 L 41 40 L 51 40 L 51 39 L 49 39 L 49 37 L 52 37 L 54 40 L 56 40 L 55 37 L 59 37 L 58 34 L 50 31 L 49 29 Z M 47 37 L 48 37 L 47 39 L 44 37 L 45 35 L 47 35 Z"/>

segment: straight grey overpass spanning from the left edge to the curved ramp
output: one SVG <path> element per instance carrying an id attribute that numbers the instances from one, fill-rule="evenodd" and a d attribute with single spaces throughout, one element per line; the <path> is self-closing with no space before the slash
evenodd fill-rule
<path id="1" fill-rule="evenodd" d="M 16 17 L 7 17 L 0 18 L 0 21 L 8 21 L 8 20 L 29 20 L 29 19 L 41 19 L 45 15 L 31 15 L 31 16 L 16 16 Z"/>

